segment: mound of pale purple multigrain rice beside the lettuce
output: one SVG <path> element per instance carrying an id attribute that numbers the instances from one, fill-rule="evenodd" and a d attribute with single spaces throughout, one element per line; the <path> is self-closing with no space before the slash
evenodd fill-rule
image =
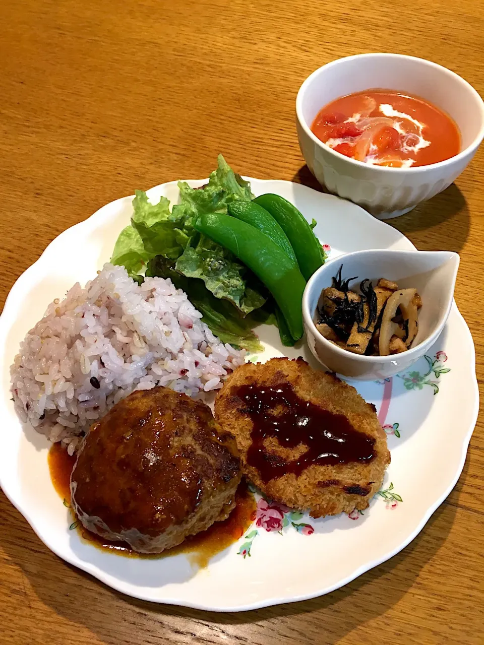
<path id="1" fill-rule="evenodd" d="M 21 419 L 74 453 L 92 422 L 134 390 L 156 385 L 194 396 L 221 388 L 245 350 L 223 344 L 169 279 L 139 286 L 105 264 L 74 284 L 28 332 L 10 368 Z"/>

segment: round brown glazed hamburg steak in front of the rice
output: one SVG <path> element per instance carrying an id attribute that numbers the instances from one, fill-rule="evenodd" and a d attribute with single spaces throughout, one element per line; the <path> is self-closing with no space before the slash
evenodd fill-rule
<path id="1" fill-rule="evenodd" d="M 160 553 L 228 517 L 241 479 L 232 435 L 168 388 L 133 392 L 86 435 L 70 479 L 83 526 Z"/>

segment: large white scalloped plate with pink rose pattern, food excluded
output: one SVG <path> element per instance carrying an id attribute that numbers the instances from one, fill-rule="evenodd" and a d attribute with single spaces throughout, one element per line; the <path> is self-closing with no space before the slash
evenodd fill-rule
<path id="1" fill-rule="evenodd" d="M 256 195 L 283 195 L 309 221 L 316 219 L 316 234 L 330 244 L 332 254 L 414 248 L 394 228 L 343 199 L 287 181 L 250 181 Z M 203 181 L 190 183 L 200 186 Z M 148 194 L 152 200 L 160 195 L 176 200 L 177 184 L 157 186 Z M 398 553 L 456 484 L 477 419 L 474 344 L 455 305 L 429 359 L 421 359 L 411 376 L 354 383 L 367 401 L 376 404 L 392 453 L 387 492 L 377 495 L 364 515 L 314 521 L 277 506 L 267 510 L 259 502 L 259 526 L 202 570 L 186 555 L 143 560 L 104 553 L 81 541 L 77 531 L 68 530 L 68 511 L 49 477 L 47 442 L 32 428 L 24 430 L 15 415 L 9 366 L 19 342 L 47 304 L 77 281 L 92 279 L 108 261 L 119 231 L 129 222 L 131 199 L 107 204 L 59 235 L 8 295 L 0 318 L 0 484 L 10 501 L 54 553 L 112 588 L 141 599 L 205 610 L 241 611 L 315 597 Z M 259 333 L 266 348 L 259 360 L 281 355 L 310 359 L 303 344 L 283 348 L 275 328 L 263 327 Z M 390 483 L 393 487 L 388 490 Z"/>

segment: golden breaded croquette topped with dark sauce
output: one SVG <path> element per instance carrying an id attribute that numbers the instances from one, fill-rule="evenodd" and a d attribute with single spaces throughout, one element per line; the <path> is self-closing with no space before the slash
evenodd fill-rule
<path id="1" fill-rule="evenodd" d="M 303 359 L 240 366 L 217 394 L 215 417 L 236 437 L 247 479 L 312 517 L 367 508 L 390 463 L 375 407 Z"/>

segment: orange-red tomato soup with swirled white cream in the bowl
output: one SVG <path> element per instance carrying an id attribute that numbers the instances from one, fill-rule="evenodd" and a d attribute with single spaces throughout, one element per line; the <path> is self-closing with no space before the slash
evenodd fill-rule
<path id="1" fill-rule="evenodd" d="M 377 166 L 427 166 L 458 154 L 449 115 L 428 101 L 392 90 L 343 96 L 319 110 L 312 132 L 347 157 Z"/>

